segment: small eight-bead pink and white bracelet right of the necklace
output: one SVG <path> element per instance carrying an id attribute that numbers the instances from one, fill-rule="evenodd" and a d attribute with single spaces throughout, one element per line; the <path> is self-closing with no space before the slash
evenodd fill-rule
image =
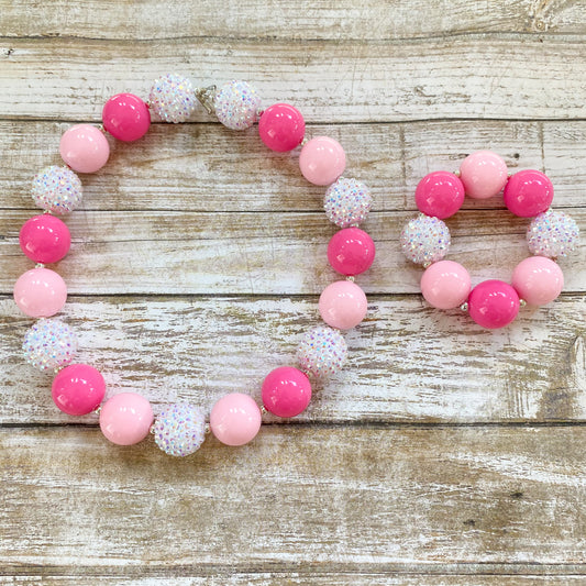
<path id="1" fill-rule="evenodd" d="M 450 230 L 443 222 L 456 213 L 464 196 L 486 199 L 502 190 L 505 204 L 515 215 L 533 218 L 527 243 L 530 256 L 512 273 L 512 285 L 490 279 L 471 290 L 471 276 L 458 263 L 443 261 L 451 244 Z M 576 222 L 550 208 L 553 185 L 539 170 L 509 175 L 505 161 L 490 151 L 468 155 L 460 172 L 425 175 L 416 188 L 416 204 L 421 212 L 401 232 L 401 248 L 407 258 L 425 268 L 421 292 L 434 308 L 461 307 L 484 328 L 504 328 L 511 323 L 519 307 L 542 306 L 562 291 L 564 275 L 555 263 L 578 244 Z"/>

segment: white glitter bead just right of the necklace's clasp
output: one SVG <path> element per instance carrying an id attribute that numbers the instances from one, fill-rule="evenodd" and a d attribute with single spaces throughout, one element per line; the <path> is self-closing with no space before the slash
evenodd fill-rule
<path id="1" fill-rule="evenodd" d="M 261 97 L 246 81 L 229 81 L 215 96 L 215 115 L 229 129 L 246 130 L 257 119 Z"/>

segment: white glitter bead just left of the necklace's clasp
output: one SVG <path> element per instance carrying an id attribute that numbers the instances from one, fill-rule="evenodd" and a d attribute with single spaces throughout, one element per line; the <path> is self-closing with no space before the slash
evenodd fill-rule
<path id="1" fill-rule="evenodd" d="M 148 102 L 164 122 L 185 122 L 197 104 L 196 91 L 187 77 L 166 74 L 155 79 Z"/>

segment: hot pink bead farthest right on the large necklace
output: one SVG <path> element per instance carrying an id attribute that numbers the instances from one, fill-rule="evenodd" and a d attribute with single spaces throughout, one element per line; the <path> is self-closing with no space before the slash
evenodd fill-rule
<path id="1" fill-rule="evenodd" d="M 328 261 L 342 275 L 360 275 L 375 259 L 375 243 L 360 228 L 344 228 L 336 232 L 328 244 Z"/>

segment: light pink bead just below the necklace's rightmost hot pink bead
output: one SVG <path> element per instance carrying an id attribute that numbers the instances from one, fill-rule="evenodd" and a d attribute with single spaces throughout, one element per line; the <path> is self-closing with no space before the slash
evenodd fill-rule
<path id="1" fill-rule="evenodd" d="M 350 330 L 366 316 L 366 295 L 351 280 L 336 280 L 323 289 L 319 309 L 328 325 Z"/>

